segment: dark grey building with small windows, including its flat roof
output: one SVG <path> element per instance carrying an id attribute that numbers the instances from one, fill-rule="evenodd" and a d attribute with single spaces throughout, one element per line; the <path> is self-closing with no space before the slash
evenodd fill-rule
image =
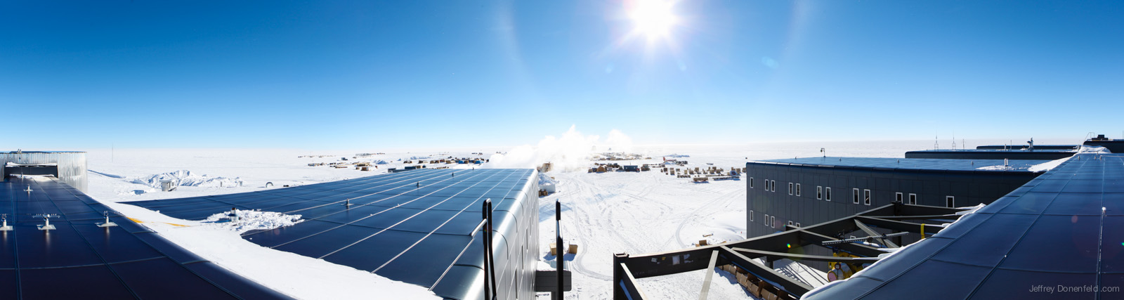
<path id="1" fill-rule="evenodd" d="M 749 162 L 743 176 L 746 237 L 783 231 L 786 226 L 826 222 L 894 201 L 934 207 L 990 203 L 1041 174 L 1028 171 L 1030 166 L 1045 162 L 1018 161 L 1001 170 L 992 167 L 1001 166 L 1001 160 L 810 157 Z M 917 238 L 907 235 L 898 242 Z M 824 247 L 801 251 L 832 255 Z M 827 269 L 822 262 L 804 263 Z"/>

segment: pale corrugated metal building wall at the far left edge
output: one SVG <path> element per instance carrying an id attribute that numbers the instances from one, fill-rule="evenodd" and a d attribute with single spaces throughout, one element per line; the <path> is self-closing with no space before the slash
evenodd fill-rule
<path id="1" fill-rule="evenodd" d="M 17 164 L 49 164 L 58 165 L 58 179 L 79 191 L 87 191 L 87 164 L 85 152 L 25 152 L 0 153 L 0 170 L 9 162 Z M 0 171 L 0 173 L 3 173 Z M 8 180 L 8 174 L 3 175 L 3 181 Z"/>

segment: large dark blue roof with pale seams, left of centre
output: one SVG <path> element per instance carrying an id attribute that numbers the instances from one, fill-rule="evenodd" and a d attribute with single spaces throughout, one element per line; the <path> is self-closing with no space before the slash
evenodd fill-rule
<path id="1" fill-rule="evenodd" d="M 537 183 L 534 176 L 534 170 L 522 169 L 427 169 L 287 189 L 130 204 L 183 219 L 202 219 L 232 207 L 301 215 L 305 220 L 294 226 L 251 231 L 243 238 L 265 247 L 429 287 L 438 296 L 464 299 L 474 297 L 471 294 L 473 285 L 482 285 L 477 276 L 483 262 L 483 244 L 481 235 L 474 234 L 482 219 L 481 203 L 492 200 L 497 238 L 515 247 L 510 239 L 522 238 L 516 235 L 517 227 L 523 228 L 520 230 L 537 228 L 529 227 L 537 225 L 537 215 L 519 212 L 526 206 L 537 212 L 534 202 L 537 198 L 533 197 L 537 188 L 532 187 Z M 527 218 L 535 224 L 520 220 Z M 537 231 L 531 234 L 537 236 Z M 504 258 L 507 260 L 516 261 Z"/>

